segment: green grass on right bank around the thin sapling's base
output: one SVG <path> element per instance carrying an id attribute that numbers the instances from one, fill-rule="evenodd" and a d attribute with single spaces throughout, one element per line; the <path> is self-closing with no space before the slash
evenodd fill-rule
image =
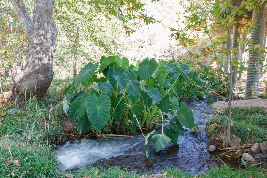
<path id="1" fill-rule="evenodd" d="M 222 133 L 227 130 L 228 110 L 213 116 L 207 122 L 207 131 Z M 241 143 L 267 142 L 267 112 L 261 107 L 239 108 L 234 107 L 231 114 L 230 134 L 239 137 Z"/>

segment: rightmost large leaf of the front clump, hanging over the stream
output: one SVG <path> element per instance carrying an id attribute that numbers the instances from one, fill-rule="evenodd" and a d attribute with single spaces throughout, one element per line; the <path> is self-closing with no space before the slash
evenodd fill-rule
<path id="1" fill-rule="evenodd" d="M 181 109 L 176 112 L 177 118 L 179 119 L 182 126 L 185 126 L 189 129 L 194 127 L 194 115 L 193 112 L 186 106 L 185 103 L 181 104 Z"/>

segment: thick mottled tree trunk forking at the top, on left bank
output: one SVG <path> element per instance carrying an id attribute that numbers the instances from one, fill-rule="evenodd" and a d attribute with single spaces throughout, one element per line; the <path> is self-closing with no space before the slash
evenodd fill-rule
<path id="1" fill-rule="evenodd" d="M 53 56 L 56 50 L 57 28 L 52 21 L 55 0 L 35 0 L 33 20 L 22 0 L 11 0 L 23 32 L 29 40 L 27 61 L 24 69 L 15 77 L 13 99 L 19 102 L 31 93 L 40 98 L 45 94 L 53 79 Z M 31 93 L 30 93 L 31 92 Z"/>

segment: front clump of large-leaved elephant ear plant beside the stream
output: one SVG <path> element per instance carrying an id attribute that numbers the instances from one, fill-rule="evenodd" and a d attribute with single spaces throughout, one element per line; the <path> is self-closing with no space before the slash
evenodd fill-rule
<path id="1" fill-rule="evenodd" d="M 178 146 L 178 136 L 184 131 L 182 126 L 189 129 L 195 126 L 192 111 L 177 98 L 176 85 L 181 71 L 177 72 L 178 68 L 172 64 L 174 68 L 168 73 L 170 63 L 146 58 L 133 66 L 127 58 L 119 56 L 102 56 L 100 63 L 89 62 L 64 89 L 64 112 L 69 119 L 80 118 L 78 131 L 91 129 L 98 135 L 112 133 L 118 127 L 121 131 L 135 133 L 136 127 L 142 132 L 142 127 L 150 129 L 162 125 L 161 134 L 155 134 L 155 130 L 147 136 L 143 134 L 147 159 L 150 159 L 147 151 L 150 137 L 158 152 L 168 142 Z M 163 117 L 169 111 L 177 115 L 173 120 Z M 165 134 L 164 121 L 170 124 Z"/>

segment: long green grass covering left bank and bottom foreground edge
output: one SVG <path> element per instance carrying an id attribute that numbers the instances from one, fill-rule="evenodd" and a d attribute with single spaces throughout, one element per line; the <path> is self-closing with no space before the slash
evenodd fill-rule
<path id="1" fill-rule="evenodd" d="M 1 117 L 4 120 L 0 125 L 0 178 L 21 177 L 22 178 L 63 178 L 58 172 L 59 163 L 55 157 L 55 145 L 51 140 L 61 137 L 56 132 L 61 132 L 64 117 L 62 111 L 62 89 L 71 82 L 71 79 L 54 78 L 47 94 L 39 101 L 32 98 L 27 101 L 26 107 L 18 113 L 8 115 L 7 108 L 0 108 Z M 14 108 L 15 106 L 13 106 Z M 255 111 L 248 112 L 252 114 Z M 262 112 L 262 114 L 266 112 Z M 260 114 L 260 115 L 262 115 Z M 52 120 L 53 118 L 53 120 Z M 245 118 L 245 117 L 244 117 Z M 266 120 L 255 121 L 257 124 L 266 124 Z M 240 119 L 240 118 L 239 118 Z M 54 124 L 52 124 L 52 121 Z M 46 123 L 46 124 L 45 124 Z M 56 124 L 57 123 L 57 124 Z M 49 127 L 48 127 L 49 126 Z M 48 139 L 48 142 L 47 142 Z M 163 168 L 166 177 L 193 178 L 194 175 L 187 174 L 179 169 Z M 71 174 L 73 178 L 139 178 L 147 177 L 148 174 L 132 174 L 118 168 L 102 169 L 100 167 L 81 169 Z M 12 176 L 14 174 L 14 176 Z M 244 170 L 231 171 L 228 167 L 215 168 L 200 174 L 202 178 L 208 177 L 266 177 L 263 169 L 245 168 Z"/>

